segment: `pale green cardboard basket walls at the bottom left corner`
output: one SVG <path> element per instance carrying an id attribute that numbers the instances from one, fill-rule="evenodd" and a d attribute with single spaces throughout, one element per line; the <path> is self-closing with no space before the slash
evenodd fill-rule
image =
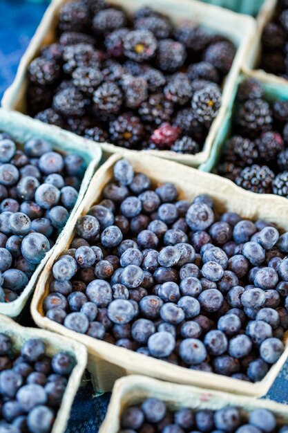
<path id="1" fill-rule="evenodd" d="M 87 351 L 83 344 L 68 340 L 68 338 L 55 335 L 55 333 L 43 331 L 43 329 L 26 328 L 15 323 L 9 317 L 0 314 L 1 333 L 12 338 L 13 349 L 20 351 L 23 342 L 31 338 L 39 338 L 46 347 L 48 356 L 54 356 L 60 351 L 69 353 L 75 358 L 75 367 L 68 378 L 68 384 L 57 412 L 51 433 L 64 433 L 77 389 L 81 383 L 82 375 L 87 362 Z"/>

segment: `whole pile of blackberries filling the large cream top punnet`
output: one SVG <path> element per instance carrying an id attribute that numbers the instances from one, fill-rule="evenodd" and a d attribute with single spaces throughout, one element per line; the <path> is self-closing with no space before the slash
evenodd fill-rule
<path id="1" fill-rule="evenodd" d="M 200 151 L 236 54 L 226 37 L 104 0 L 65 3 L 58 34 L 28 68 L 31 116 L 128 149 Z"/>

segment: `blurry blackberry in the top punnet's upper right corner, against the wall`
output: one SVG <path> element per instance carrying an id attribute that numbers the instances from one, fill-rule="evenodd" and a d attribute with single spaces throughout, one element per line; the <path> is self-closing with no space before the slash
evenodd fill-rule
<path id="1" fill-rule="evenodd" d="M 204 60 L 226 75 L 231 69 L 235 54 L 236 48 L 231 42 L 216 42 L 205 50 Z"/>

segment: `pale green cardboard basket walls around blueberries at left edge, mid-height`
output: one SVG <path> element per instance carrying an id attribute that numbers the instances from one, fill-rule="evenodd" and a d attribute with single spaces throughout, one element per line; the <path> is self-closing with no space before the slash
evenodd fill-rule
<path id="1" fill-rule="evenodd" d="M 12 138 L 19 143 L 19 148 L 21 148 L 21 144 L 27 140 L 30 140 L 30 138 L 38 137 L 44 138 L 45 140 L 51 142 L 53 148 L 57 149 L 57 151 L 60 151 L 63 154 L 69 154 L 69 152 L 77 153 L 84 158 L 88 167 L 81 183 L 77 203 L 75 204 L 75 208 L 70 213 L 70 217 L 66 224 L 67 228 L 71 219 L 73 219 L 73 214 L 75 214 L 81 203 L 81 200 L 84 197 L 95 169 L 97 169 L 97 166 L 100 163 L 102 157 L 102 151 L 100 147 L 93 145 L 93 143 L 91 143 L 89 140 L 85 140 L 84 138 L 76 136 L 75 134 L 68 131 L 63 131 L 57 127 L 45 125 L 44 123 L 39 122 L 39 120 L 31 119 L 28 118 L 28 116 L 24 116 L 23 114 L 6 111 L 4 109 L 0 109 L 0 132 L 10 133 Z M 61 239 L 64 236 L 66 228 L 62 230 L 56 241 L 56 244 L 61 243 Z M 55 248 L 55 246 L 53 248 Z M 28 302 L 32 291 L 35 288 L 35 284 L 39 278 L 41 270 L 44 269 L 48 258 L 52 254 L 53 248 L 51 248 L 39 266 L 37 266 L 35 273 L 33 273 L 30 281 L 28 282 L 28 285 L 23 290 L 21 295 L 19 295 L 17 300 L 9 303 L 0 303 L 1 314 L 5 314 L 10 317 L 18 317 L 20 315 L 24 306 L 26 305 L 26 302 Z"/>

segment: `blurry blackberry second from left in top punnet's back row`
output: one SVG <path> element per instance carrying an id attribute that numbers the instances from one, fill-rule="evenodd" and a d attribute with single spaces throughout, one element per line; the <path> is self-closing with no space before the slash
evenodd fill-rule
<path id="1" fill-rule="evenodd" d="M 109 33 L 126 26 L 126 15 L 122 10 L 108 8 L 97 12 L 93 19 L 93 29 L 96 33 Z"/>

